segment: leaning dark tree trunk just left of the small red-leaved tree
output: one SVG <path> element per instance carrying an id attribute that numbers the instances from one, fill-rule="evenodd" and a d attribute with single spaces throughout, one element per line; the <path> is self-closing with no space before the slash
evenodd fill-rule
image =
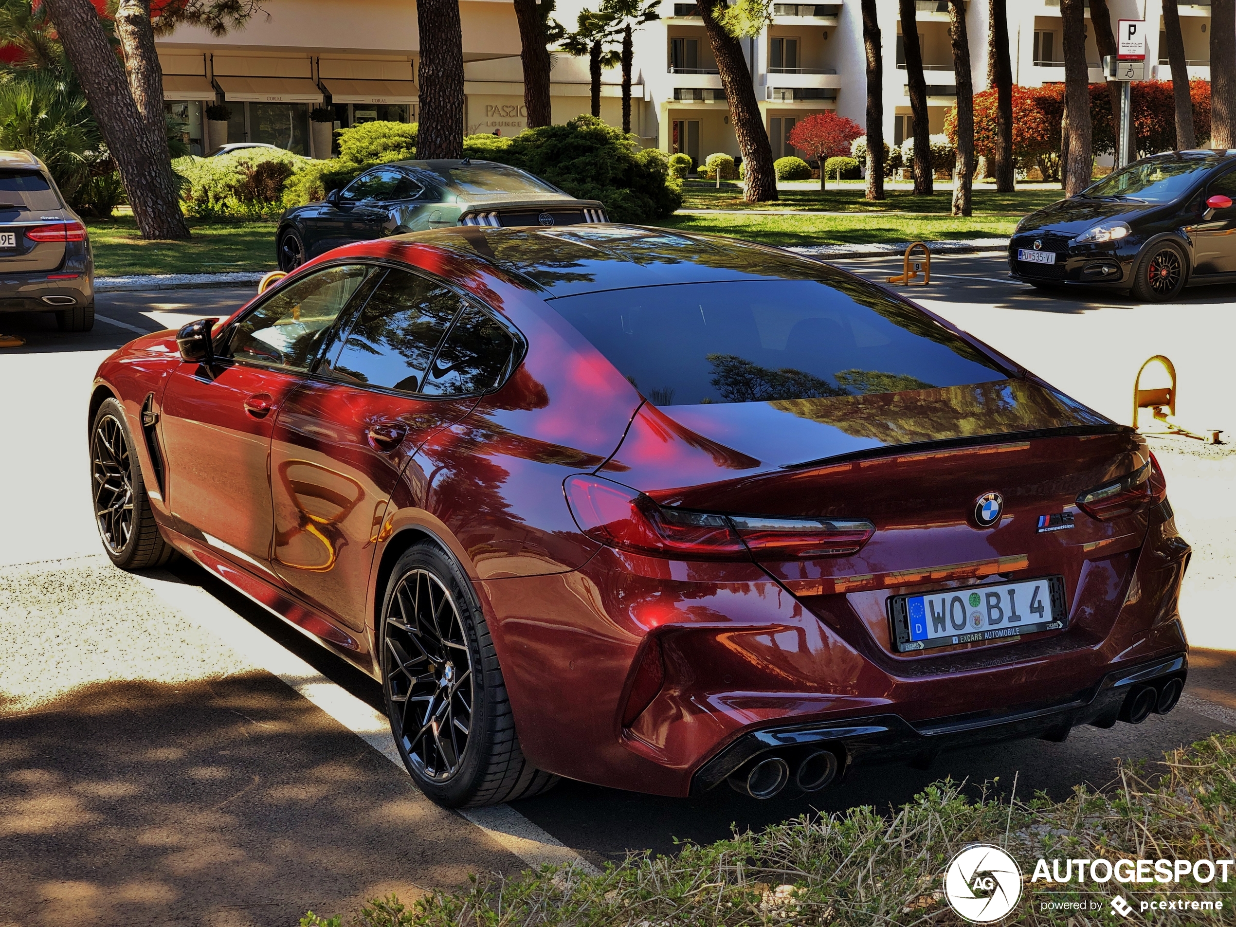
<path id="1" fill-rule="evenodd" d="M 729 101 L 729 121 L 738 138 L 738 150 L 743 153 L 747 172 L 744 199 L 748 203 L 768 203 L 777 198 L 772 147 L 769 145 L 769 133 L 764 130 L 764 117 L 755 99 L 747 58 L 743 57 L 743 46 L 714 19 L 719 7 L 721 0 L 700 0 L 700 15 L 703 16 L 712 57 L 717 61 L 721 85 Z"/>

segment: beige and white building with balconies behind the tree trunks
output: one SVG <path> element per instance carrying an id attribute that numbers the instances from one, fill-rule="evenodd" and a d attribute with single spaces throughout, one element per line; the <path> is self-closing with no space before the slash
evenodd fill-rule
<path id="1" fill-rule="evenodd" d="M 572 26 L 599 0 L 557 0 L 555 15 Z M 1167 79 L 1161 0 L 1109 0 L 1112 21 L 1145 19 L 1153 77 Z M 900 143 L 912 133 L 905 47 L 896 0 L 879 0 L 884 54 L 884 133 Z M 932 132 L 957 101 L 947 0 L 916 0 Z M 1210 0 L 1180 2 L 1190 77 L 1209 80 Z M 738 153 L 717 63 L 693 1 L 665 0 L 661 19 L 635 32 L 632 130 L 644 145 L 702 159 Z M 468 132 L 510 135 L 527 125 L 519 30 L 510 0 L 461 0 Z M 1089 4 L 1086 4 L 1089 17 Z M 986 87 L 988 0 L 968 0 L 970 75 Z M 330 106 L 336 127 L 375 119 L 415 121 L 417 35 L 414 0 L 267 0 L 243 30 L 222 37 L 179 27 L 158 40 L 168 108 L 189 124 L 197 150 L 225 141 L 262 141 L 304 154 L 313 150 L 309 110 Z M 1059 0 L 1009 2 L 1015 83 L 1064 79 Z M 822 110 L 865 122 L 866 67 L 859 0 L 775 4 L 772 21 L 743 40 L 750 80 L 775 157 L 794 153 L 795 124 Z M 1090 79 L 1103 80 L 1088 27 Z M 601 115 L 620 124 L 617 68 L 603 72 Z M 203 119 L 210 103 L 231 110 L 226 137 L 211 137 Z M 551 80 L 554 121 L 590 110 L 586 58 L 556 54 Z M 220 135 L 216 132 L 216 135 Z"/>

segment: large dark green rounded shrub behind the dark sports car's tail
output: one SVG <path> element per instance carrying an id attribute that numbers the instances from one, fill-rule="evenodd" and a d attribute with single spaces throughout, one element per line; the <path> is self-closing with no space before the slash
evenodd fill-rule
<path id="1" fill-rule="evenodd" d="M 640 148 L 596 116 L 528 129 L 510 138 L 470 135 L 464 152 L 523 168 L 572 197 L 601 200 L 617 222 L 664 219 L 682 205 L 682 190 L 670 177 L 665 153 Z"/>

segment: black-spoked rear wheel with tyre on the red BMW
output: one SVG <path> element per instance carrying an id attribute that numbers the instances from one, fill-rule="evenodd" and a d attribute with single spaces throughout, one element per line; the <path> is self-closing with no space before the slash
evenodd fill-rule
<path id="1" fill-rule="evenodd" d="M 429 541 L 408 549 L 391 571 L 381 614 L 391 733 L 425 795 L 475 807 L 557 782 L 524 759 L 488 625 L 452 557 Z"/>

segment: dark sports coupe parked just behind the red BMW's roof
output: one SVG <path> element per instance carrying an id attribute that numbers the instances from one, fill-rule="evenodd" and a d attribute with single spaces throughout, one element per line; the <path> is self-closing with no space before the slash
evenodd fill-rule
<path id="1" fill-rule="evenodd" d="M 321 203 L 279 220 L 279 269 L 350 241 L 451 225 L 606 222 L 604 206 L 576 199 L 527 171 L 492 161 L 396 161 L 366 171 Z"/>

